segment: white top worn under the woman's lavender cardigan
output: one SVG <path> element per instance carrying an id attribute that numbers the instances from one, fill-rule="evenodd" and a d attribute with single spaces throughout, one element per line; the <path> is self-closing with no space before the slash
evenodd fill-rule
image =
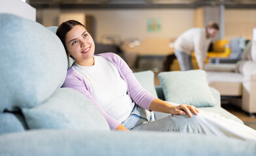
<path id="1" fill-rule="evenodd" d="M 93 98 L 107 114 L 120 123 L 128 118 L 135 103 L 127 94 L 127 84 L 114 64 L 104 57 L 94 56 L 93 66 L 80 66 L 74 62 L 72 68 L 88 81 Z"/>

